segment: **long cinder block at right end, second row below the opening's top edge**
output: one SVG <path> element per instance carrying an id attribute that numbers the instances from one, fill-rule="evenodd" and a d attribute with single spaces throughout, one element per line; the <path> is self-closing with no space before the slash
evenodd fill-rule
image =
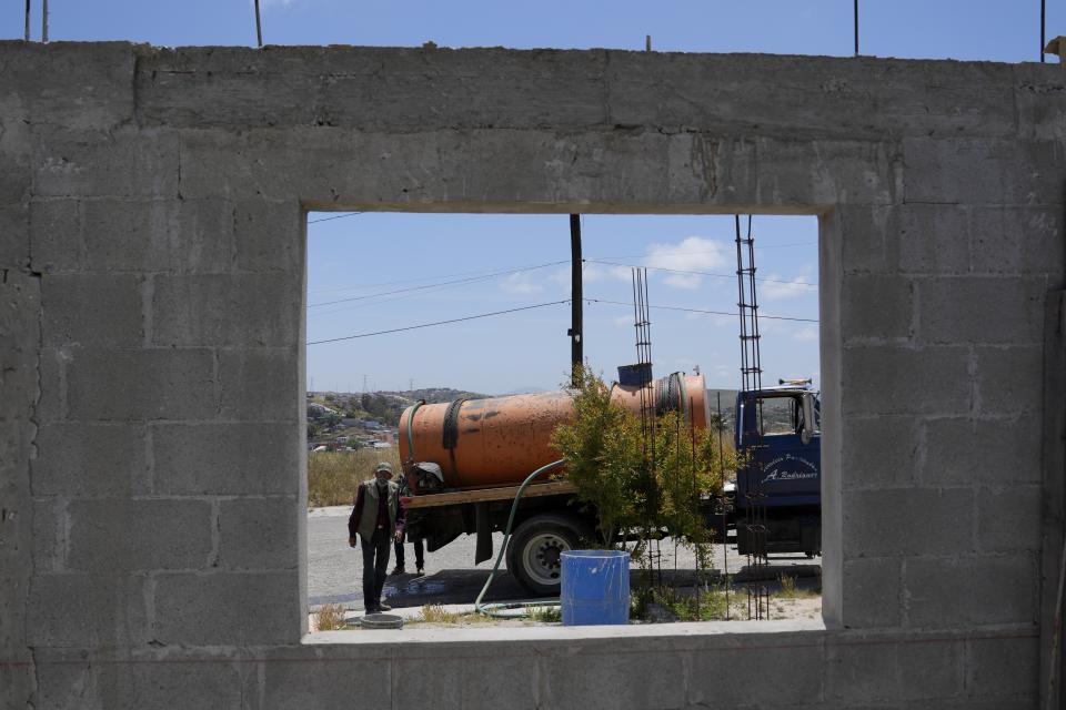
<path id="1" fill-rule="evenodd" d="M 918 337 L 925 343 L 1040 343 L 1044 277 L 958 276 L 922 278 Z"/>

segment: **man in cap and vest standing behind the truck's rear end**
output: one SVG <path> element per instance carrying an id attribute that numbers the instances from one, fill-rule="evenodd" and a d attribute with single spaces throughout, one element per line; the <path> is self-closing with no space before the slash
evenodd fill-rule
<path id="1" fill-rule="evenodd" d="M 389 611 L 381 602 L 389 570 L 389 542 L 403 539 L 403 503 L 400 486 L 390 480 L 392 464 L 382 462 L 374 478 L 363 481 L 355 494 L 355 507 L 348 519 L 348 545 L 355 547 L 355 535 L 363 548 L 363 607 L 366 613 Z"/>

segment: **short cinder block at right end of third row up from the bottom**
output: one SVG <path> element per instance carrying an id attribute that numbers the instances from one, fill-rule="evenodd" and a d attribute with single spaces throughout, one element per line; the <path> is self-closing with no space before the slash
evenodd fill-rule
<path id="1" fill-rule="evenodd" d="M 1039 550 L 1043 497 L 1039 486 L 978 490 L 977 548 L 983 552 Z"/>

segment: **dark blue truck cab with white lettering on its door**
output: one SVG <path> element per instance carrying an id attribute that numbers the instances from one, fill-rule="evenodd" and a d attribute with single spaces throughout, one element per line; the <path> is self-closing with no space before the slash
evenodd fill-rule
<path id="1" fill-rule="evenodd" d="M 822 554 L 822 430 L 809 381 L 736 396 L 734 515 L 741 554 Z"/>

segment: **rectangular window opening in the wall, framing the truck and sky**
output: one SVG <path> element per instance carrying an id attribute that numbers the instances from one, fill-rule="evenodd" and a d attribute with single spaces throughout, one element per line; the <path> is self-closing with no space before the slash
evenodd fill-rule
<path id="1" fill-rule="evenodd" d="M 607 386 L 631 376 L 619 367 L 650 347 L 658 412 L 678 402 L 682 419 L 711 433 L 727 463 L 721 490 L 697 496 L 714 536 L 705 555 L 666 529 L 662 539 L 643 536 L 651 561 L 632 562 L 633 617 L 822 618 L 818 219 L 752 217 L 754 264 L 743 241 L 738 250 L 733 215 L 585 214 L 579 224 L 575 323 L 565 214 L 308 213 L 311 631 L 360 628 L 363 545 L 356 535 L 350 547 L 348 521 L 360 483 L 380 463 L 413 489 L 404 491 L 408 519 L 423 548 L 405 540 L 400 568 L 393 542 L 379 546 L 389 556 L 388 613 L 408 629 L 471 622 L 515 487 L 559 456 L 545 450 L 544 432 L 572 410 L 569 397 L 552 393 L 570 385 L 579 339 Z M 741 239 L 747 234 L 742 216 Z M 754 282 L 738 284 L 738 253 Z M 646 273 L 643 335 L 637 268 Z M 742 300 L 757 304 L 743 332 Z M 701 379 L 704 390 L 693 396 L 686 387 Z M 605 545 L 602 520 L 574 501 L 565 480 L 537 484 L 520 505 L 486 602 L 557 597 L 561 551 Z M 648 576 L 654 605 L 641 591 Z M 535 608 L 524 622 L 559 626 L 560 613 Z"/>

